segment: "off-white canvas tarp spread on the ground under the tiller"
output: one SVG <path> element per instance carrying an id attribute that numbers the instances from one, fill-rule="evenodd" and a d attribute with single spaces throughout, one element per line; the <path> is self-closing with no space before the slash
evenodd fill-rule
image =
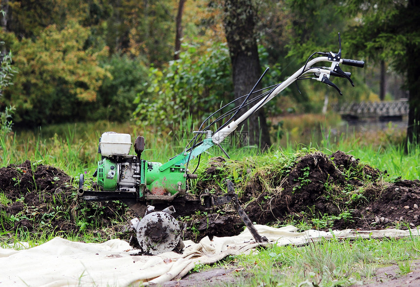
<path id="1" fill-rule="evenodd" d="M 319 238 L 377 238 L 417 236 L 419 230 L 296 232 L 293 226 L 255 225 L 277 245 L 301 245 Z M 22 245 L 23 246 L 23 245 Z M 238 236 L 185 241 L 183 254 L 167 252 L 139 256 L 128 243 L 113 239 L 101 244 L 71 242 L 56 237 L 40 246 L 0 249 L 0 286 L 116 286 L 162 283 L 186 275 L 196 264 L 210 264 L 228 255 L 250 252 L 257 244 L 248 230 Z"/>

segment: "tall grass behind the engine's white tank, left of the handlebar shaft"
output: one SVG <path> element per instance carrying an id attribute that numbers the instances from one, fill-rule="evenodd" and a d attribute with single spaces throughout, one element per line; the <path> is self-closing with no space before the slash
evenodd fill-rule
<path id="1" fill-rule="evenodd" d="M 21 164 L 28 159 L 53 165 L 72 176 L 84 171 L 90 174 L 101 159 L 97 153 L 98 143 L 105 131 L 131 134 L 132 141 L 137 135 L 145 136 L 146 150 L 143 155 L 152 161 L 164 162 L 180 152 L 179 148 L 171 145 L 172 133 L 156 135 L 152 128 L 140 130 L 131 123 L 70 123 L 36 130 L 17 130 L 1 138 L 0 166 Z"/>

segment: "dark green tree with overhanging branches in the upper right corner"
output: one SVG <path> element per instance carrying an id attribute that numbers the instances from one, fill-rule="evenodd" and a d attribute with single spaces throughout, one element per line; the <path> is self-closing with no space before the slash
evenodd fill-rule
<path id="1" fill-rule="evenodd" d="M 407 141 L 420 143 L 420 0 L 348 0 L 341 11 L 360 19 L 350 27 L 350 46 L 371 61 L 390 61 L 405 75 Z"/>

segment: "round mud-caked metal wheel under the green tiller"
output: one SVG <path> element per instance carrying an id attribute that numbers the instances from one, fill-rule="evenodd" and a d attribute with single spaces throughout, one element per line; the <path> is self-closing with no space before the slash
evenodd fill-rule
<path id="1" fill-rule="evenodd" d="M 181 241 L 178 221 L 163 211 L 147 214 L 137 225 L 136 230 L 140 249 L 150 255 L 172 251 Z"/>

